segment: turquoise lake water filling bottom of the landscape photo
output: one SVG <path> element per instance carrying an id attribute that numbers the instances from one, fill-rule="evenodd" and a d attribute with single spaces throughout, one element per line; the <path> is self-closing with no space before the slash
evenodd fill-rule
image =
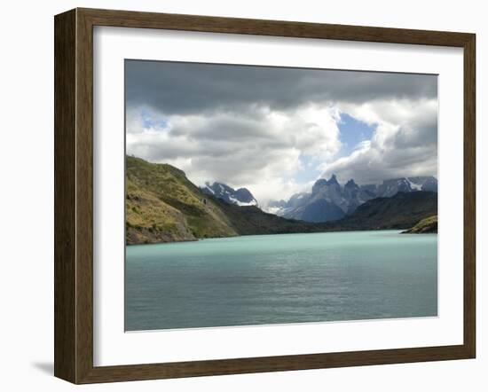
<path id="1" fill-rule="evenodd" d="M 437 316 L 437 234 L 243 236 L 126 254 L 127 331 Z"/>

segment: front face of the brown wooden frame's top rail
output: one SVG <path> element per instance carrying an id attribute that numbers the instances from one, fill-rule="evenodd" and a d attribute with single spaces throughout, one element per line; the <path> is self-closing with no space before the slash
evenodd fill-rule
<path id="1" fill-rule="evenodd" d="M 165 28 L 228 34 L 326 38 L 378 43 L 463 46 L 469 34 L 405 28 L 363 27 L 283 20 L 219 18 L 174 13 L 78 9 L 94 26 Z"/>

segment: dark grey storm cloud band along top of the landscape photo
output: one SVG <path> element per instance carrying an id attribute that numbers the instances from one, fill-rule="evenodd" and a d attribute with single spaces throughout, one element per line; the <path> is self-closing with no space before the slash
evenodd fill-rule
<path id="1" fill-rule="evenodd" d="M 437 97 L 437 77 L 426 74 L 140 60 L 126 60 L 125 87 L 129 106 L 151 106 L 167 115 Z"/>

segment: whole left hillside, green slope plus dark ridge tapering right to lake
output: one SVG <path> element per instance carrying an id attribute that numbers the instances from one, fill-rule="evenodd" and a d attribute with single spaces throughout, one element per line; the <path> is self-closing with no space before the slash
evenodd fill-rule
<path id="1" fill-rule="evenodd" d="M 327 231 L 307 223 L 239 207 L 203 194 L 183 171 L 139 158 L 126 160 L 126 242 L 145 244 L 247 234 Z"/>

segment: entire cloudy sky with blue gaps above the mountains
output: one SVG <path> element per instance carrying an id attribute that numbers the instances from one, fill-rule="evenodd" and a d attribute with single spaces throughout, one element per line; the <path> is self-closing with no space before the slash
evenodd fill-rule
<path id="1" fill-rule="evenodd" d="M 437 176 L 437 76 L 126 60 L 127 153 L 262 206 L 319 177 Z"/>

